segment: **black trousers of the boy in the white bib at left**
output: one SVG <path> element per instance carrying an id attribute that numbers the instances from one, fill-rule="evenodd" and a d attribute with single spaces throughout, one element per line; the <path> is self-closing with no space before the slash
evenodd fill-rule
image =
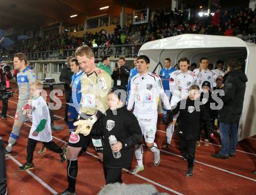
<path id="1" fill-rule="evenodd" d="M 37 140 L 29 138 L 27 140 L 27 163 L 33 163 L 33 153 L 35 146 L 37 145 Z M 55 151 L 55 153 L 62 153 L 62 148 L 57 146 L 55 142 L 42 142 L 42 144 L 49 150 Z"/>

